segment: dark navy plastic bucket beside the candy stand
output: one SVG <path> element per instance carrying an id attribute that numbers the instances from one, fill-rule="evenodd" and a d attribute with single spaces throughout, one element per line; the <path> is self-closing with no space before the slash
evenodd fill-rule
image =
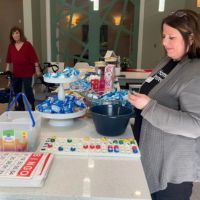
<path id="1" fill-rule="evenodd" d="M 134 116 L 131 108 L 121 105 L 99 105 L 90 110 L 96 131 L 104 136 L 123 134 L 129 119 Z"/>

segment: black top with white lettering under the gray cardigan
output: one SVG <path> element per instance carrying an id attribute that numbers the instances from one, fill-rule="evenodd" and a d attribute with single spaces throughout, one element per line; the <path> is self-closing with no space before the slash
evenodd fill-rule
<path id="1" fill-rule="evenodd" d="M 152 77 L 147 78 L 145 82 L 143 83 L 142 87 L 140 88 L 140 93 L 148 95 L 149 92 L 158 83 L 160 83 L 163 79 L 167 77 L 167 75 L 174 69 L 174 67 L 177 65 L 178 62 L 179 61 L 170 60 L 160 71 L 157 72 L 157 74 L 153 75 Z M 135 116 L 133 134 L 137 143 L 139 144 L 143 117 L 141 116 L 141 110 L 137 108 L 135 108 L 135 114 L 136 116 Z"/>

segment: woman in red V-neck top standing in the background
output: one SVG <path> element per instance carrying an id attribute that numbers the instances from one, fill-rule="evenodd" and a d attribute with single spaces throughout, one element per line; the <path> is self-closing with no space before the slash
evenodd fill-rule
<path id="1" fill-rule="evenodd" d="M 32 89 L 33 74 L 40 75 L 38 57 L 30 42 L 26 40 L 23 30 L 19 27 L 12 27 L 10 30 L 10 44 L 6 58 L 6 71 L 13 71 L 13 89 L 15 95 L 24 89 L 25 95 L 35 110 L 35 98 Z M 23 100 L 20 97 L 16 110 L 25 110 Z"/>

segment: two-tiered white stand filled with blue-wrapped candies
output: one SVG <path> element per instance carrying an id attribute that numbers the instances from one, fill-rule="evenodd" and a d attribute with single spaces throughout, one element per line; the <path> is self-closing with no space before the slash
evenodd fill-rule
<path id="1" fill-rule="evenodd" d="M 64 83 L 78 80 L 80 72 L 74 68 L 66 67 L 62 72 L 45 73 L 44 81 L 60 84 L 58 94 L 48 97 L 36 109 L 42 117 L 48 118 L 53 126 L 68 126 L 73 124 L 73 119 L 81 117 L 86 112 L 86 105 L 78 96 L 65 95 Z"/>

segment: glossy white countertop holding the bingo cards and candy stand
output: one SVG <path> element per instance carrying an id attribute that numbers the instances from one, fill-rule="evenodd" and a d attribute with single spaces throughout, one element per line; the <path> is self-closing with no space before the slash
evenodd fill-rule
<path id="1" fill-rule="evenodd" d="M 42 122 L 46 136 L 102 137 L 91 119 L 76 119 L 71 127 L 51 127 Z M 123 137 L 132 136 L 128 126 Z M 122 137 L 122 136 L 121 136 Z M 54 157 L 42 188 L 0 187 L 0 200 L 150 200 L 140 159 L 95 158 L 84 156 Z"/>

